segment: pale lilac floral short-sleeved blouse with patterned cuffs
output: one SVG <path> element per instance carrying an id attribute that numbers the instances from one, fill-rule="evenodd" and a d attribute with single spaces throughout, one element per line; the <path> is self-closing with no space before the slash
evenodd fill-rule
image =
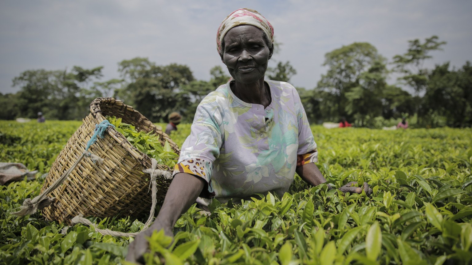
<path id="1" fill-rule="evenodd" d="M 198 105 L 174 175 L 185 172 L 208 183 L 201 197 L 249 198 L 287 192 L 295 167 L 316 162 L 318 151 L 300 97 L 287 82 L 266 80 L 267 108 L 237 98 L 229 82 Z"/>

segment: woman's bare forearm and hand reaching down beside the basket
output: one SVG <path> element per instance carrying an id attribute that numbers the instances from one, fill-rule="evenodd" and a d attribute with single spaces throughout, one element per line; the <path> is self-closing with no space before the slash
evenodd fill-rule
<path id="1" fill-rule="evenodd" d="M 166 235 L 173 236 L 172 228 L 177 219 L 195 203 L 205 185 L 206 181 L 201 177 L 177 173 L 169 186 L 159 215 L 148 229 L 136 235 L 135 240 L 129 244 L 126 260 L 143 263 L 143 254 L 149 246 L 146 237 L 150 237 L 152 232 L 164 229 Z"/>

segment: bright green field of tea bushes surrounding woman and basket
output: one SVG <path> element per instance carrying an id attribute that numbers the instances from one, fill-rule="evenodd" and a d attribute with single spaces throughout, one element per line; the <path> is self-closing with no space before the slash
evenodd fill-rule
<path id="1" fill-rule="evenodd" d="M 67 226 L 40 213 L 12 216 L 39 194 L 47 173 L 80 121 L 0 121 L 0 161 L 37 169 L 38 179 L 0 186 L 0 263 L 126 264 L 132 238 L 103 236 L 84 225 Z M 164 126 L 164 124 L 159 124 Z M 182 145 L 190 126 L 171 134 Z M 223 205 L 211 215 L 191 207 L 174 229 L 150 239 L 148 264 L 343 265 L 472 264 L 472 129 L 312 126 L 318 167 L 332 185 L 367 181 L 365 194 L 309 187 L 299 177 L 282 198 Z M 85 143 L 84 143 L 85 145 Z M 136 232 L 145 219 L 89 218 L 100 228 Z"/>

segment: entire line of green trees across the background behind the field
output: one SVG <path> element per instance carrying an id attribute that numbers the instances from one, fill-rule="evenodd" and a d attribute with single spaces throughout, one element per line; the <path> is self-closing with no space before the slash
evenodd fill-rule
<path id="1" fill-rule="evenodd" d="M 458 69 L 449 63 L 424 67 L 430 53 L 444 45 L 437 36 L 410 40 L 407 51 L 391 61 L 367 42 L 327 53 L 323 65 L 328 70 L 316 87 L 297 88 L 310 122 L 337 122 L 345 117 L 355 126 L 379 128 L 406 117 L 413 127 L 471 126 L 471 63 Z M 279 46 L 276 43 L 276 52 Z M 37 112 L 53 120 L 82 119 L 94 98 L 113 96 L 153 122 L 166 122 L 174 111 L 183 115 L 184 122 L 191 122 L 202 98 L 229 79 L 219 66 L 210 70 L 210 80 L 195 80 L 186 65 L 157 65 L 141 57 L 118 63 L 120 79 L 101 81 L 102 68 L 22 72 L 13 79 L 19 91 L 0 94 L 0 119 L 34 118 Z M 276 62 L 266 74 L 288 82 L 296 70 L 288 61 Z M 397 76 L 396 84 L 387 82 L 392 74 Z"/>

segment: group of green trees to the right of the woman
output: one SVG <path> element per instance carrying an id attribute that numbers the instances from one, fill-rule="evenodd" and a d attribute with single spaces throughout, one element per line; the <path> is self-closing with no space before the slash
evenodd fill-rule
<path id="1" fill-rule="evenodd" d="M 327 73 L 315 89 L 301 90 L 309 120 L 337 122 L 346 117 L 357 127 L 382 128 L 396 125 L 384 120 L 415 116 L 415 122 L 409 120 L 413 127 L 471 126 L 470 62 L 458 70 L 449 70 L 449 63 L 432 71 L 423 67 L 430 53 L 445 44 L 437 36 L 410 40 L 407 52 L 393 57 L 393 71 L 414 96 L 386 83 L 386 59 L 369 43 L 354 42 L 327 53 Z"/>

